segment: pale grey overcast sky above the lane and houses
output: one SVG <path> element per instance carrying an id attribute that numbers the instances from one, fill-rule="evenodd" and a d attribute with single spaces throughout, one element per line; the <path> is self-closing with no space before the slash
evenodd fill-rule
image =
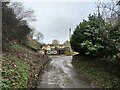
<path id="1" fill-rule="evenodd" d="M 29 1 L 23 2 L 23 4 L 35 11 L 37 21 L 32 23 L 32 26 L 37 31 L 43 33 L 44 43 L 51 43 L 53 39 L 57 39 L 60 43 L 63 43 L 69 39 L 69 28 L 73 31 L 77 24 L 83 19 L 87 19 L 89 14 L 97 12 L 95 2 Z"/>

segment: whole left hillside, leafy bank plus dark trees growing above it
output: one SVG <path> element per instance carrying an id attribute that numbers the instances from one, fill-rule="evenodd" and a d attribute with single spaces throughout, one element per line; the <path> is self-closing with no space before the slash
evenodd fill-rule
<path id="1" fill-rule="evenodd" d="M 33 31 L 28 24 L 29 20 L 33 20 L 33 14 L 33 11 L 25 9 L 22 3 L 2 2 L 0 86 L 3 90 L 36 87 L 40 72 L 49 61 L 46 55 L 36 52 L 41 44 L 28 38 Z"/>

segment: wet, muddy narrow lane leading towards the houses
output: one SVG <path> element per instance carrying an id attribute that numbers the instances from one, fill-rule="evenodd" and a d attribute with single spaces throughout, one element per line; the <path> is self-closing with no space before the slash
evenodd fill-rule
<path id="1" fill-rule="evenodd" d="M 38 88 L 91 88 L 73 68 L 72 57 L 53 57 L 42 74 Z"/>

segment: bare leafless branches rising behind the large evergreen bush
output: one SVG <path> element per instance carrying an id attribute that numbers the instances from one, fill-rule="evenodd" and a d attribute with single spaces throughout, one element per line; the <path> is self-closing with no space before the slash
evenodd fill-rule
<path id="1" fill-rule="evenodd" d="M 110 2 L 101 2 L 98 0 L 96 7 L 98 9 L 98 14 L 109 23 L 114 24 L 116 20 L 118 20 L 118 16 L 120 16 L 117 1 L 115 0 L 111 0 Z"/>

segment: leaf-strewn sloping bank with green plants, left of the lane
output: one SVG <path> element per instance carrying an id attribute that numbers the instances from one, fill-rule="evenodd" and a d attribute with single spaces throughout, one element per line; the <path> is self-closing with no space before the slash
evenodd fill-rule
<path id="1" fill-rule="evenodd" d="M 2 57 L 2 89 L 36 87 L 39 73 L 49 58 L 14 43 Z"/>

